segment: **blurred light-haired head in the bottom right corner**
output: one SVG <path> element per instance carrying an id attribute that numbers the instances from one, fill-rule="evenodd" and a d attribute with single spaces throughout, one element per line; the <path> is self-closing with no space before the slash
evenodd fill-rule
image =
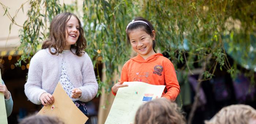
<path id="1" fill-rule="evenodd" d="M 255 124 L 256 110 L 249 105 L 229 105 L 221 109 L 205 124 Z"/>

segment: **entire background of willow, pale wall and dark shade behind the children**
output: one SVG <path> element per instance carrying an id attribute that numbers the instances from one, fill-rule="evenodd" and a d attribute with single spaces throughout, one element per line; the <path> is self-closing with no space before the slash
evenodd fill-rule
<path id="1" fill-rule="evenodd" d="M 37 113 L 24 84 L 29 61 L 47 39 L 52 18 L 72 12 L 82 22 L 99 83 L 87 103 L 91 124 L 103 124 L 123 64 L 136 54 L 125 28 L 141 16 L 156 31 L 158 53 L 175 66 L 181 93 L 176 99 L 188 123 L 203 124 L 223 106 L 256 108 L 256 3 L 253 0 L 0 0 L 2 78 L 14 108 L 9 124 Z"/>

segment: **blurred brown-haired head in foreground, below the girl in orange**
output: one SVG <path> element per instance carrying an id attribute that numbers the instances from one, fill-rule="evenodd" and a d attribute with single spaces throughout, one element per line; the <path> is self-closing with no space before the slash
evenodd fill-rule
<path id="1" fill-rule="evenodd" d="M 175 102 L 158 98 L 139 107 L 134 124 L 185 124 L 185 118 Z"/>

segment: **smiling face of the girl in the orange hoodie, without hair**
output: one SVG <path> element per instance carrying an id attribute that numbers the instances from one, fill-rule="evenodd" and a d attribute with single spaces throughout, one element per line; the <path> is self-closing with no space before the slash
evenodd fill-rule
<path id="1" fill-rule="evenodd" d="M 153 40 L 155 40 L 155 31 L 152 31 L 154 37 L 147 34 L 143 28 L 137 28 L 129 33 L 132 49 L 136 51 L 145 60 L 155 54 L 153 50 Z"/>

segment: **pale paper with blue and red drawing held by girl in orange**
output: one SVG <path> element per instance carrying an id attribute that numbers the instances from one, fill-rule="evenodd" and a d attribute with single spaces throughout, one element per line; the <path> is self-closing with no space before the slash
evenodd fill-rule
<path id="1" fill-rule="evenodd" d="M 144 82 L 124 82 L 127 87 L 119 88 L 105 124 L 133 124 L 140 105 L 162 96 L 164 85 Z"/>

